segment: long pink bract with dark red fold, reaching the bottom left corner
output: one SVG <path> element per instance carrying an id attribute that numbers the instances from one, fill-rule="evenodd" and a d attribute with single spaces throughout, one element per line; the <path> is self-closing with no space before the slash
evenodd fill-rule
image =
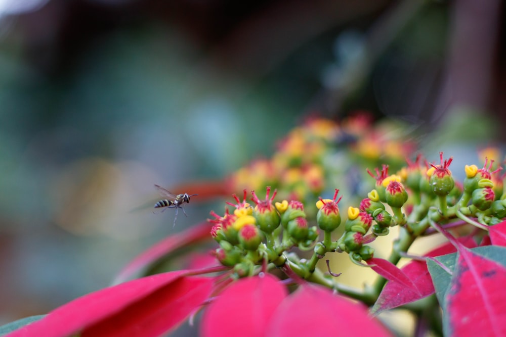
<path id="1" fill-rule="evenodd" d="M 163 273 L 105 288 L 69 302 L 9 337 L 158 336 L 175 328 L 209 296 L 213 278 Z"/>

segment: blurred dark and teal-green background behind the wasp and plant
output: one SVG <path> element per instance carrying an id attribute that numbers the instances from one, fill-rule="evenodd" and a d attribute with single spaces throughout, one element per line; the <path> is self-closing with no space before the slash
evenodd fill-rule
<path id="1" fill-rule="evenodd" d="M 153 184 L 223 178 L 308 114 L 430 134 L 474 111 L 454 139 L 502 140 L 483 120 L 504 122 L 503 17 L 499 0 L 0 1 L 0 323 L 221 210 L 195 197 L 172 228 Z"/>

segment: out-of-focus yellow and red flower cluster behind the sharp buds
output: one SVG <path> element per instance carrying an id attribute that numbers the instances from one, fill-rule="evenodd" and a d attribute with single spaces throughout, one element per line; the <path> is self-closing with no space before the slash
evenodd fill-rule
<path id="1" fill-rule="evenodd" d="M 326 186 L 346 176 L 353 163 L 376 165 L 383 160 L 398 167 L 415 146 L 406 139 L 388 136 L 395 134 L 391 132 L 394 127 L 387 123 L 374 125 L 364 112 L 341 123 L 309 119 L 278 143 L 271 159 L 255 160 L 232 174 L 228 190 L 272 186 L 283 199 L 313 203 Z M 339 161 L 341 157 L 353 161 Z"/>

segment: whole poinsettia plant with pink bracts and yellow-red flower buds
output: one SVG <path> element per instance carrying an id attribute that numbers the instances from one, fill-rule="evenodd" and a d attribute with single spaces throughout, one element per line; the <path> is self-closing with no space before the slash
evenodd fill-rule
<path id="1" fill-rule="evenodd" d="M 192 334 L 208 337 L 388 336 L 395 331 L 381 313 L 403 308 L 416 317 L 415 335 L 505 335 L 501 167 L 488 158 L 482 168 L 451 167 L 465 173 L 458 181 L 452 157 L 440 153 L 437 164 L 409 158 L 413 145 L 385 134 L 363 116 L 340 125 L 309 121 L 280 142 L 271 160 L 223 182 L 232 196 L 223 213 L 211 211 L 207 221 L 163 239 L 126 266 L 115 285 L 0 332 L 158 336 L 188 321 L 198 322 Z M 400 157 L 408 158 L 405 165 Z M 354 165 L 364 163 L 381 168 L 352 179 Z M 349 181 L 361 187 L 353 191 Z M 327 194 L 331 199 L 321 197 Z M 444 244 L 408 252 L 437 233 Z M 389 256 L 376 257 L 371 243 L 389 236 Z M 201 247 L 207 254 L 190 253 Z M 330 268 L 336 258 L 379 277 L 364 287 L 344 284 Z M 410 262 L 401 266 L 401 258 Z M 171 266 L 176 261 L 180 270 Z"/>

